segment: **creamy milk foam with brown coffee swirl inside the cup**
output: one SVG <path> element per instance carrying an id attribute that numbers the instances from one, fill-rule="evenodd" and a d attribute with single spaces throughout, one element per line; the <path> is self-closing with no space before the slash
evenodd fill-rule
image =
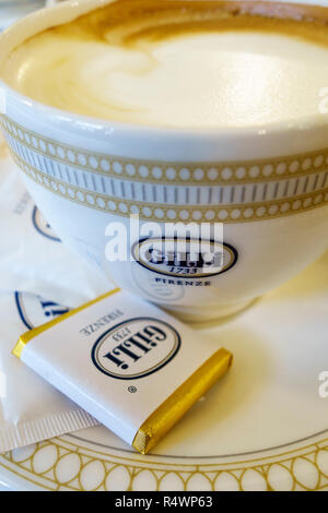
<path id="1" fill-rule="evenodd" d="M 149 4 L 122 1 L 138 3 Z M 38 102 L 114 121 L 245 127 L 319 116 L 328 87 L 323 26 L 261 25 L 250 15 L 227 23 L 180 2 L 176 12 L 156 11 L 163 3 L 171 2 L 152 0 L 151 15 L 140 8 L 126 23 L 109 7 L 48 29 L 17 47 L 0 75 Z"/>

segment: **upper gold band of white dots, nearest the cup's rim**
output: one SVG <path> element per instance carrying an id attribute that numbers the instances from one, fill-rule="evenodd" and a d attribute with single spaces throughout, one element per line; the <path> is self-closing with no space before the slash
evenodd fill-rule
<path id="1" fill-rule="evenodd" d="M 40 136 L 0 116 L 8 136 L 55 162 L 125 180 L 173 184 L 237 184 L 270 182 L 328 169 L 328 148 L 280 158 L 211 163 L 167 163 L 108 156 Z"/>

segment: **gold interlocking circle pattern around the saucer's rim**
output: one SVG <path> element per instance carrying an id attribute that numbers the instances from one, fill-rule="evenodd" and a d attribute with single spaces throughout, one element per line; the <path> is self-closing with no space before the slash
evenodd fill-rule
<path id="1" fill-rule="evenodd" d="M 70 438 L 70 437 L 69 437 Z M 71 439 L 71 438 L 70 438 Z M 308 442 L 307 442 L 308 443 Z M 291 445 L 292 446 L 292 445 Z M 128 455 L 127 455 L 128 454 Z M 46 456 L 48 464 L 39 465 Z M 145 456 L 97 448 L 87 449 L 66 438 L 37 443 L 0 456 L 0 467 L 23 480 L 52 491 L 137 491 L 147 486 L 157 490 L 319 491 L 328 488 L 328 439 L 271 456 L 249 456 L 246 461 L 218 458 L 197 463 L 188 457 Z M 93 487 L 87 476 L 95 469 Z M 147 482 L 147 485 L 144 485 Z M 195 488 L 195 485 L 199 488 Z M 173 488 L 174 487 L 174 488 Z M 142 488 L 144 490 L 144 488 Z"/>

